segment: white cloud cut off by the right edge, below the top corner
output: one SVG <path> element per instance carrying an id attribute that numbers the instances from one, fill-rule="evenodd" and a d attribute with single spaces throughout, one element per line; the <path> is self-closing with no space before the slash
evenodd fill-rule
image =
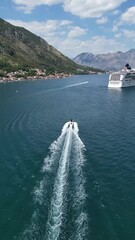
<path id="1" fill-rule="evenodd" d="M 135 24 L 135 7 L 128 8 L 120 17 L 121 24 Z"/>

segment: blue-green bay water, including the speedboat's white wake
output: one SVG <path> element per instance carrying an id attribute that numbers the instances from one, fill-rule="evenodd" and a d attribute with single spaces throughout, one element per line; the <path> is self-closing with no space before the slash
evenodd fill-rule
<path id="1" fill-rule="evenodd" d="M 0 84 L 0 239 L 135 238 L 135 88 L 107 83 Z"/>

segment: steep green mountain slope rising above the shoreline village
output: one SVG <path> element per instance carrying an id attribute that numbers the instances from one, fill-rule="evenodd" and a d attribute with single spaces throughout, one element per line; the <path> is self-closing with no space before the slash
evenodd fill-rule
<path id="1" fill-rule="evenodd" d="M 41 37 L 0 18 L 0 69 L 9 72 L 28 68 L 46 69 L 48 73 L 93 70 L 78 66 Z"/>

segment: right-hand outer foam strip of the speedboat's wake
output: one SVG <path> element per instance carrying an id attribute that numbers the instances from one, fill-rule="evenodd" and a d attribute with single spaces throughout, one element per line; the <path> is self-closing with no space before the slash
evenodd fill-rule
<path id="1" fill-rule="evenodd" d="M 74 195 L 73 208 L 75 210 L 75 231 L 71 239 L 87 239 L 87 214 L 84 211 L 86 193 L 84 188 L 85 178 L 83 176 L 82 166 L 85 162 L 85 146 L 79 136 L 73 133 L 73 173 L 74 173 Z"/>

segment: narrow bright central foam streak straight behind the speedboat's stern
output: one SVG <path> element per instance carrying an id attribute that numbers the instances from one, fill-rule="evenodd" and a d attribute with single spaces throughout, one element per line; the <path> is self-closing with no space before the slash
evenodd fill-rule
<path id="1" fill-rule="evenodd" d="M 51 208 L 47 223 L 47 236 L 45 238 L 47 240 L 57 240 L 60 234 L 64 210 L 64 199 L 66 195 L 66 184 L 71 144 L 72 144 L 72 127 L 69 127 L 66 132 L 65 142 L 54 184 L 53 197 L 51 201 Z"/>

